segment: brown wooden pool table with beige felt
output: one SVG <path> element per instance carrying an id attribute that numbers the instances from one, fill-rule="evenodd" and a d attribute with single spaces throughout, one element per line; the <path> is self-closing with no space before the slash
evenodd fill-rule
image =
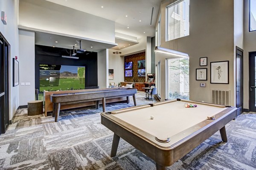
<path id="1" fill-rule="evenodd" d="M 102 112 L 101 123 L 114 133 L 111 157 L 121 137 L 166 170 L 218 130 L 227 142 L 225 125 L 235 117 L 236 107 L 177 99 Z"/>

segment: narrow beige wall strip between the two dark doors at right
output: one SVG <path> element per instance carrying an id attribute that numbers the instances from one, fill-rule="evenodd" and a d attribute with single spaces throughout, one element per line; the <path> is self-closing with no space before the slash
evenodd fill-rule
<path id="1" fill-rule="evenodd" d="M 256 31 L 249 32 L 249 0 L 244 0 L 244 109 L 249 109 L 249 52 L 256 52 Z"/>

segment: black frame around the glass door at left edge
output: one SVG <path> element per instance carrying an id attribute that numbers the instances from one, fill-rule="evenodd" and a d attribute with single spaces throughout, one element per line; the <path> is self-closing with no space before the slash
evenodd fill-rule
<path id="1" fill-rule="evenodd" d="M 10 115 L 10 108 L 9 108 L 9 94 L 10 94 L 10 70 L 9 70 L 9 58 L 10 58 L 10 43 L 6 40 L 6 38 L 3 36 L 3 34 L 0 32 L 0 38 L 3 40 L 3 70 L 4 70 L 4 113 L 2 113 L 1 116 L 1 127 L 0 127 L 0 134 L 3 134 L 6 132 L 10 121 L 9 121 L 9 115 Z M 6 50 L 7 49 L 7 50 Z"/>

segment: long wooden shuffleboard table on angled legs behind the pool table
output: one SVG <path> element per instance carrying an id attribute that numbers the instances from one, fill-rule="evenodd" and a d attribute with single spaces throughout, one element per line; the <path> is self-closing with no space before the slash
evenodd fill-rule
<path id="1" fill-rule="evenodd" d="M 95 89 L 88 92 L 62 93 L 50 95 L 50 101 L 53 103 L 52 116 L 55 116 L 55 122 L 58 121 L 61 104 L 82 103 L 88 101 L 97 101 L 96 108 L 99 108 L 99 101 L 102 101 L 102 109 L 105 112 L 105 100 L 117 97 L 126 97 L 129 103 L 129 96 L 133 96 L 134 106 L 136 106 L 135 94 L 137 89 L 132 88 L 109 88 Z"/>

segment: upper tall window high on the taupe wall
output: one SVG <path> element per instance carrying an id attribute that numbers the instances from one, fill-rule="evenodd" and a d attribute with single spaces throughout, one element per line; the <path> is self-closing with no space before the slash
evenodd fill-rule
<path id="1" fill-rule="evenodd" d="M 189 35 L 189 0 L 166 6 L 166 41 Z"/>

